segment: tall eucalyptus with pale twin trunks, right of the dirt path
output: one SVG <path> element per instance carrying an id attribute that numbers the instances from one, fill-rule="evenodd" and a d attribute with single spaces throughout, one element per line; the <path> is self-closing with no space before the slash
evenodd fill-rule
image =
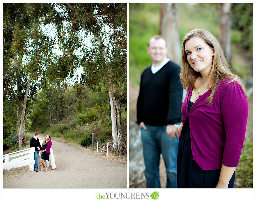
<path id="1" fill-rule="evenodd" d="M 120 100 L 126 97 L 122 94 L 122 90 L 127 92 L 127 4 L 66 3 L 58 6 L 63 10 L 61 18 L 69 28 L 62 37 L 60 47 L 63 53 L 73 55 L 76 51 L 80 52 L 77 57 L 79 57 L 79 66 L 83 67 L 81 84 L 98 91 L 108 89 L 113 148 L 118 146 L 120 153 L 122 148 Z M 73 57 L 71 55 L 68 58 L 73 63 L 74 55 Z M 74 66 L 68 68 L 66 73 L 74 72 Z M 118 99 L 115 98 L 115 86 L 118 86 Z"/>

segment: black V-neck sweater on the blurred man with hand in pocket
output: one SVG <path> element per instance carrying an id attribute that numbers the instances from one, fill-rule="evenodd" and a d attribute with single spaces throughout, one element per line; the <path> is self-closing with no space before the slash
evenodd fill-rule
<path id="1" fill-rule="evenodd" d="M 151 66 L 143 71 L 137 100 L 137 124 L 164 126 L 181 121 L 183 87 L 179 72 L 180 67 L 172 61 L 155 74 Z"/>

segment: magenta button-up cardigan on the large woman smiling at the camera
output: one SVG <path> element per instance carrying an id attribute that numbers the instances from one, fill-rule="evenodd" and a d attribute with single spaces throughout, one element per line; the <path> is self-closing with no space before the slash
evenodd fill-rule
<path id="1" fill-rule="evenodd" d="M 211 104 L 206 102 L 211 94 L 208 90 L 198 97 L 188 113 L 192 88 L 188 89 L 182 104 L 181 135 L 189 125 L 193 160 L 202 170 L 220 169 L 222 164 L 236 167 L 241 156 L 248 101 L 240 84 L 236 81 L 226 84 L 228 81 L 230 79 L 220 82 Z"/>

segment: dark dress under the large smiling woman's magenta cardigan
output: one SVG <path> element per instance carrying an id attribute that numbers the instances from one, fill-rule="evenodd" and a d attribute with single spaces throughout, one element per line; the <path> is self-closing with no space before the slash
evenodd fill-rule
<path id="1" fill-rule="evenodd" d="M 193 102 L 189 101 L 188 111 L 193 104 Z M 202 170 L 193 158 L 191 139 L 188 124 L 180 137 L 178 145 L 177 186 L 178 188 L 215 188 L 218 184 L 221 169 Z M 234 187 L 234 178 L 235 172 L 230 179 L 229 188 Z"/>

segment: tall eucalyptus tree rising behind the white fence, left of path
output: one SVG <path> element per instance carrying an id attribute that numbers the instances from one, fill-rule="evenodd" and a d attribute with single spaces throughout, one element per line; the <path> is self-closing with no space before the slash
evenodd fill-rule
<path id="1" fill-rule="evenodd" d="M 17 102 L 17 114 L 10 116 L 17 116 L 19 149 L 26 141 L 24 118 L 28 96 L 36 93 L 38 79 L 52 57 L 53 40 L 41 27 L 49 10 L 49 4 L 3 4 L 3 107 L 8 109 L 9 101 Z"/>

